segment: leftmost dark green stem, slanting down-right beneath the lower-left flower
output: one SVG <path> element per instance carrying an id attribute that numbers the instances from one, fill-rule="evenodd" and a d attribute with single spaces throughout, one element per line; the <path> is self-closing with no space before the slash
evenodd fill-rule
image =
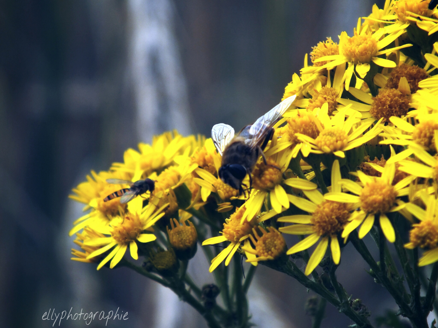
<path id="1" fill-rule="evenodd" d="M 145 269 L 134 265 L 133 263 L 122 259 L 120 263 L 130 269 L 133 269 L 134 271 L 140 273 L 142 276 L 148 277 L 149 279 L 152 279 L 156 281 L 157 283 L 162 284 L 162 286 L 165 286 L 167 288 L 170 288 L 173 290 L 175 294 L 177 294 L 184 302 L 190 304 L 196 311 L 201 314 L 205 320 L 207 321 L 208 327 L 210 328 L 221 328 L 219 323 L 216 321 L 215 317 L 213 316 L 211 311 L 208 311 L 201 303 L 196 300 L 191 293 L 185 289 L 184 283 L 170 283 L 167 282 L 164 279 L 159 278 L 158 276 L 155 276 L 154 274 L 146 271 Z"/>

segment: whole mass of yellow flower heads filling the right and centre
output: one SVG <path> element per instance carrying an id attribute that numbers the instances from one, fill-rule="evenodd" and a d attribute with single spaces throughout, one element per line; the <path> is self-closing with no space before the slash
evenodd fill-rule
<path id="1" fill-rule="evenodd" d="M 132 258 L 144 256 L 162 276 L 182 263 L 184 278 L 199 238 L 210 272 L 236 254 L 273 267 L 292 255 L 311 275 L 318 265 L 339 265 L 348 242 L 359 250 L 372 234 L 381 261 L 390 242 L 420 251 L 419 266 L 438 262 L 438 10 L 428 4 L 387 0 L 339 42 L 315 45 L 285 88 L 283 117 L 258 132 L 258 158 L 246 171 L 240 163 L 251 161 L 236 158 L 249 154 L 224 163 L 225 136 L 176 131 L 126 150 L 109 171 L 92 171 L 70 196 L 86 211 L 70 232 L 82 250 L 72 259 L 113 268 L 129 246 Z M 248 131 L 233 142 L 251 144 L 258 136 Z M 244 188 L 227 184 L 224 167 Z M 154 181 L 150 192 L 120 202 L 146 178 Z M 409 232 L 399 233 L 403 226 Z M 288 247 L 283 234 L 300 240 Z"/>

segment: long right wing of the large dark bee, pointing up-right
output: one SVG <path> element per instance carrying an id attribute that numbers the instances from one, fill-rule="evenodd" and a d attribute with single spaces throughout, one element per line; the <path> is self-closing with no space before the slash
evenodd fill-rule
<path id="1" fill-rule="evenodd" d="M 286 112 L 286 110 L 292 105 L 292 102 L 295 100 L 297 96 L 293 95 L 289 98 L 286 98 L 274 108 L 272 108 L 265 115 L 261 116 L 251 125 L 249 129 L 249 134 L 251 137 L 251 141 L 249 145 L 251 147 L 255 147 L 260 143 L 268 133 L 269 129 L 274 126 L 274 124 L 278 121 L 280 117 Z"/>

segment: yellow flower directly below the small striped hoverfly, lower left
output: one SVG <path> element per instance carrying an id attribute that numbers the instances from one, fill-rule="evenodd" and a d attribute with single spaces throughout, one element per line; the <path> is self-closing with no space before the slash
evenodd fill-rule
<path id="1" fill-rule="evenodd" d="M 152 225 L 164 215 L 164 213 L 161 212 L 168 204 L 165 204 L 154 212 L 156 205 L 154 205 L 153 202 L 155 202 L 155 200 L 151 199 L 145 209 L 142 209 L 143 199 L 140 197 L 133 199 L 129 202 L 127 213 L 114 218 L 109 226 L 102 226 L 96 229 L 102 234 L 110 235 L 109 237 L 93 238 L 84 241 L 84 245 L 101 247 L 89 254 L 87 259 L 109 251 L 115 246 L 102 262 L 99 263 L 97 266 L 98 270 L 111 259 L 109 267 L 113 269 L 123 258 L 128 245 L 131 257 L 137 260 L 138 246 L 136 241 L 147 243 L 156 239 L 154 234 L 145 234 L 143 231 L 150 230 Z"/>

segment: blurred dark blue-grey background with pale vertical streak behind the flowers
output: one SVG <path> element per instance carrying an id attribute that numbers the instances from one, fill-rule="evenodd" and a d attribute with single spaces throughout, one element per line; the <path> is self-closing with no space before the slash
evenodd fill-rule
<path id="1" fill-rule="evenodd" d="M 280 101 L 312 46 L 352 35 L 373 3 L 0 1 L 0 327 L 51 327 L 42 314 L 53 307 L 129 312 L 108 327 L 205 327 L 171 292 L 130 270 L 71 261 L 67 233 L 82 205 L 67 195 L 91 169 L 107 170 L 153 134 L 209 136 L 218 122 L 253 122 Z M 372 322 L 395 306 L 350 246 L 342 258 L 339 281 Z M 194 263 L 191 274 L 211 283 L 201 251 Z M 256 277 L 254 322 L 310 327 L 311 293 L 263 266 Z M 321 327 L 349 324 L 327 306 Z"/>

